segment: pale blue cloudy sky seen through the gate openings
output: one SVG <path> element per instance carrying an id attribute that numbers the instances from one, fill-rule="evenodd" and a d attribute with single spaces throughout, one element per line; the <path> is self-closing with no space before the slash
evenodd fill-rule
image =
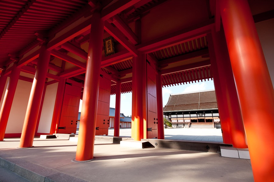
<path id="1" fill-rule="evenodd" d="M 188 83 L 177 86 L 163 87 L 163 106 L 167 104 L 169 94 L 171 93 L 188 93 L 196 92 L 201 90 L 210 90 L 214 89 L 213 80 Z M 124 113 L 125 116 L 130 116 L 132 113 L 132 93 L 123 93 L 121 94 L 121 109 L 120 113 Z M 80 100 L 79 112 L 81 112 L 82 100 Z M 110 98 L 110 107 L 115 108 L 115 95 L 112 95 Z"/>

